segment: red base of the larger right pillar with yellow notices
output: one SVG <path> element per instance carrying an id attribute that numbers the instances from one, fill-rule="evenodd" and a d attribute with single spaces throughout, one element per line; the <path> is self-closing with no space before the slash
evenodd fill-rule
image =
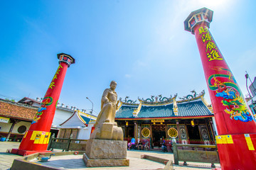
<path id="1" fill-rule="evenodd" d="M 221 169 L 255 169 L 256 133 L 216 136 Z"/>

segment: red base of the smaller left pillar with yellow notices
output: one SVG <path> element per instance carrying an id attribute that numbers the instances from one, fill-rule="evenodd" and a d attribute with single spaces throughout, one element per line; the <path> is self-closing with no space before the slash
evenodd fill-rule
<path id="1" fill-rule="evenodd" d="M 12 149 L 12 154 L 27 155 L 36 152 L 50 152 L 47 150 L 50 132 L 28 130 L 18 149 Z"/>

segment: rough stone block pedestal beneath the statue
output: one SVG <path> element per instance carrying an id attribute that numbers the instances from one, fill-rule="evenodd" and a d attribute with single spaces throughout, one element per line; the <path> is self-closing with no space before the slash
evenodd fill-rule
<path id="1" fill-rule="evenodd" d="M 82 159 L 87 167 L 129 166 L 127 141 L 90 139 Z"/>

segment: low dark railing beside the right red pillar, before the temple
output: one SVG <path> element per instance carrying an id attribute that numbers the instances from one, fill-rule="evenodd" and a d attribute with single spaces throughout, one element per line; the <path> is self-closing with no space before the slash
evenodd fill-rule
<path id="1" fill-rule="evenodd" d="M 176 140 L 172 141 L 174 148 L 174 164 L 179 161 L 184 162 L 204 162 L 211 163 L 211 167 L 215 168 L 214 163 L 220 163 L 216 145 L 185 145 L 176 144 Z"/>

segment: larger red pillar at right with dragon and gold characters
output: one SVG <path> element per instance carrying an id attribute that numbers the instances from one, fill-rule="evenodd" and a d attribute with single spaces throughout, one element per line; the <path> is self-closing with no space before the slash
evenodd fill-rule
<path id="1" fill-rule="evenodd" d="M 242 92 L 208 28 L 213 11 L 193 11 L 184 22 L 196 37 L 218 129 L 221 169 L 255 169 L 256 123 Z"/>

